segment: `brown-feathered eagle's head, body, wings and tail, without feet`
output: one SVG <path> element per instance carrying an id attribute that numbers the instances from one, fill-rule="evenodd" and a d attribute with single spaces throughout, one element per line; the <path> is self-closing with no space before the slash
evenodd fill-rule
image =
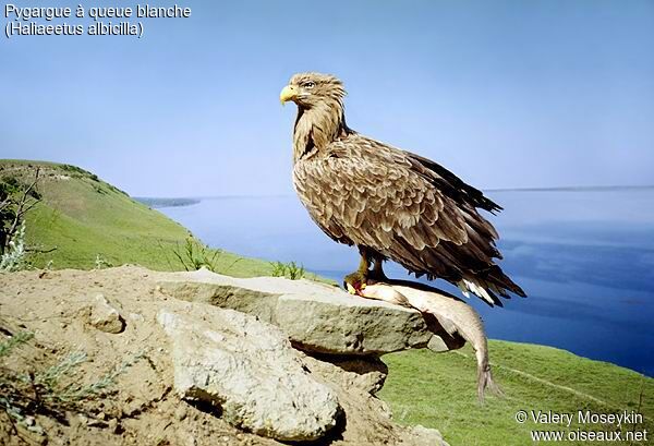
<path id="1" fill-rule="evenodd" d="M 417 277 L 443 278 L 489 304 L 524 296 L 494 263 L 498 234 L 477 208 L 497 204 L 436 162 L 363 136 L 346 124 L 342 83 L 295 74 L 280 99 L 298 105 L 293 184 L 331 239 L 359 246 L 367 262 L 390 258 Z"/>

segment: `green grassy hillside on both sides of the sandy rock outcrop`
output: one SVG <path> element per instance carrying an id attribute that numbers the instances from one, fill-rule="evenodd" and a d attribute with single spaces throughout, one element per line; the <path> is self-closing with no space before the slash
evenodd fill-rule
<path id="1" fill-rule="evenodd" d="M 114 266 L 129 263 L 156 270 L 183 269 L 174 253 L 183 252 L 187 230 L 90 172 L 66 165 L 0 160 L 0 180 L 25 180 L 35 166 L 41 168 L 43 202 L 27 220 L 28 242 L 45 250 L 57 246 L 33 256 L 36 267 L 52 261 L 55 269 L 90 269 L 98 266 L 99 255 Z M 252 277 L 270 275 L 271 266 L 219 253 L 217 270 Z M 506 393 L 502 399 L 491 397 L 483 407 L 476 401 L 475 361 L 469 347 L 441 354 L 420 350 L 385 355 L 389 372 L 379 397 L 390 403 L 398 422 L 438 429 L 451 445 L 518 446 L 532 443 L 530 430 L 561 429 L 559 424 L 516 422 L 518 410 L 532 409 L 566 413 L 635 410 L 645 417 L 635 429 L 654 431 L 652 378 L 542 346 L 491 341 L 489 349 L 494 373 Z M 598 424 L 562 429 L 613 431 L 610 425 Z"/>

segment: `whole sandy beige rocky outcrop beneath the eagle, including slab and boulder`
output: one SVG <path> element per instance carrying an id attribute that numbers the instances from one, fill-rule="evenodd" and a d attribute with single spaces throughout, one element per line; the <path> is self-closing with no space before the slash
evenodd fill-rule
<path id="1" fill-rule="evenodd" d="M 380 353 L 434 339 L 410 309 L 304 280 L 134 266 L 0 275 L 0 328 L 35 333 L 47 366 L 82 350 L 74 379 L 121 370 L 83 418 L 37 414 L 39 442 L 446 445 L 438 431 L 395 423 L 375 397 L 388 373 Z M 3 432 L 0 443 L 23 444 Z"/>

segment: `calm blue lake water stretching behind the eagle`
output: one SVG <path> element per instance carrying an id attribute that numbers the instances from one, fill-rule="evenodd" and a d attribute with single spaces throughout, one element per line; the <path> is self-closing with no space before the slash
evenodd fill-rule
<path id="1" fill-rule="evenodd" d="M 562 348 L 654 376 L 654 189 L 488 192 L 502 268 L 526 299 L 481 313 L 488 336 Z M 202 198 L 160 210 L 214 248 L 303 264 L 341 280 L 354 248 L 328 239 L 294 196 Z M 390 277 L 407 278 L 398 265 Z M 432 282 L 460 296 L 449 284 Z"/>

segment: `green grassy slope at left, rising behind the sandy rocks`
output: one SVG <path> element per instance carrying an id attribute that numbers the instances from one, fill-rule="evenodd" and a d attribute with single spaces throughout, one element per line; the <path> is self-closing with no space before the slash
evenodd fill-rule
<path id="1" fill-rule="evenodd" d="M 190 236 L 181 225 L 158 210 L 74 166 L 43 161 L 0 160 L 0 180 L 14 177 L 28 182 L 40 167 L 43 201 L 27 217 L 31 246 L 50 253 L 33 254 L 37 267 L 52 261 L 53 268 L 95 266 L 96 256 L 113 265 L 138 264 L 153 269 L 183 269 L 173 254 Z M 223 252 L 218 272 L 233 276 L 270 274 L 267 262 Z"/>

